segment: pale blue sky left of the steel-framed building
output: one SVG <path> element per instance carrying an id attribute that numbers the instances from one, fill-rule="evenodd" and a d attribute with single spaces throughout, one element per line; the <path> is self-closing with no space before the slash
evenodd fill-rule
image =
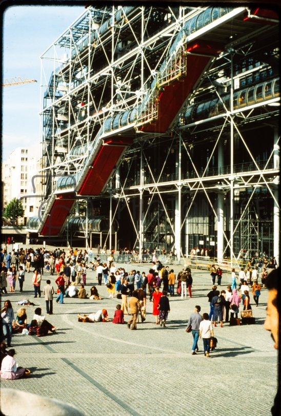
<path id="1" fill-rule="evenodd" d="M 81 6 L 13 6 L 3 15 L 3 80 L 36 79 L 32 84 L 3 88 L 2 158 L 40 137 L 39 111 L 43 52 L 84 13 Z"/>

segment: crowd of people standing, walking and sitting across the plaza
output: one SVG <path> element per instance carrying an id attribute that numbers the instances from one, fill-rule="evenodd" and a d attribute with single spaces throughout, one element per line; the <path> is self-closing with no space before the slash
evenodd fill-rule
<path id="1" fill-rule="evenodd" d="M 64 303 L 65 297 L 101 300 L 102 297 L 97 289 L 97 286 L 101 285 L 106 286 L 109 298 L 117 297 L 121 300 L 121 303 L 116 304 L 112 319 L 109 318 L 107 309 L 98 308 L 95 313 L 78 314 L 78 321 L 81 322 L 112 321 L 114 324 L 126 324 L 125 316 L 128 315 L 127 326 L 135 330 L 139 322 L 146 320 L 147 302 L 149 301 L 152 302 L 152 315 L 155 324 L 165 328 L 170 312 L 169 297 L 177 296 L 180 299 L 185 299 L 192 298 L 193 295 L 191 269 L 185 267 L 176 276 L 173 268 L 164 266 L 157 258 L 153 259 L 148 273 L 136 269 L 126 272 L 123 267 L 116 267 L 112 255 L 108 257 L 107 262 L 103 262 L 97 255 L 95 261 L 88 264 L 87 251 L 75 252 L 71 247 L 67 252 L 56 249 L 46 253 L 44 249 L 35 251 L 25 249 L 19 251 L 17 258 L 16 261 L 14 253 L 11 253 L 8 260 L 2 261 L 2 294 L 8 293 L 7 288 L 11 293 L 17 290 L 16 281 L 18 281 L 19 292 L 23 292 L 25 274 L 32 273 L 34 298 L 41 297 L 43 293 L 48 315 L 53 314 L 54 298 L 57 303 Z M 8 261 L 10 261 L 9 264 Z M 268 265 L 263 266 L 264 263 L 257 263 L 254 266 L 253 264 L 247 265 L 246 269 L 242 267 L 238 272 L 232 269 L 231 284 L 218 290 L 217 287 L 222 284 L 223 271 L 220 267 L 212 264 L 210 270 L 212 289 L 207 294 L 210 305 L 209 313 L 205 312 L 200 315 L 201 308 L 196 305 L 188 320 L 188 326 L 192 327 L 192 355 L 198 353 L 198 340 L 202 338 L 204 355 L 209 357 L 212 350 L 211 340 L 214 339 L 214 327 L 217 325 L 223 327 L 224 323 L 229 323 L 233 318 L 237 319 L 239 310 L 251 310 L 253 303 L 258 306 L 260 291 L 262 288 L 268 287 L 270 275 Z M 95 272 L 96 285 L 91 285 L 89 293 L 87 293 L 85 286 L 89 269 Z M 53 283 L 51 283 L 51 278 L 46 280 L 41 292 L 44 273 L 48 277 L 54 276 L 54 278 Z M 56 285 L 55 289 L 54 285 Z M 15 333 L 27 331 L 28 335 L 42 337 L 56 331 L 54 325 L 46 320 L 42 309 L 38 307 L 34 311 L 33 318 L 28 320 L 25 307 L 20 307 L 15 314 L 10 300 L 6 300 L 1 309 L 1 317 L 7 347 L 12 346 L 12 334 Z M 6 347 L 4 340 L 2 340 L 2 344 Z M 4 347 L 3 351 L 5 351 Z M 24 377 L 26 375 L 25 369 L 14 366 L 15 351 L 13 349 L 10 351 L 10 353 L 9 351 L 4 352 L 4 359 L 9 358 L 5 360 L 1 377 L 7 378 L 7 371 L 11 372 L 12 378 Z"/>

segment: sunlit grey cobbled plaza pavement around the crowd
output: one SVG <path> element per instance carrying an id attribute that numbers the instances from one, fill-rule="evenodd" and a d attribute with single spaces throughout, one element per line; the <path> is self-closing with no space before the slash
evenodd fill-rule
<path id="1" fill-rule="evenodd" d="M 117 264 L 121 266 L 121 264 Z M 126 271 L 148 272 L 149 264 L 124 264 Z M 170 266 L 178 272 L 182 266 Z M 54 314 L 46 319 L 58 329 L 47 337 L 14 335 L 18 365 L 30 368 L 26 379 L 1 382 L 15 388 L 75 405 L 85 415 L 150 416 L 216 415 L 268 416 L 276 393 L 277 352 L 269 332 L 264 329 L 267 289 L 262 290 L 259 306 L 253 305 L 255 325 L 215 327 L 217 348 L 206 358 L 203 341 L 199 352 L 191 355 L 192 335 L 185 331 L 195 305 L 209 313 L 207 293 L 211 288 L 209 272 L 192 271 L 193 296 L 170 297 L 167 327 L 155 325 L 152 303 L 147 317 L 137 330 L 112 322 L 78 322 L 78 313 L 106 308 L 112 318 L 118 299 L 108 298 L 106 287 L 97 286 L 102 300 L 65 298 L 54 301 Z M 44 274 L 41 289 L 55 276 Z M 45 299 L 33 299 L 32 273 L 27 273 L 24 293 L 8 293 L 15 315 L 16 303 L 28 298 L 41 306 Z M 222 289 L 230 282 L 224 276 Z M 95 272 L 88 271 L 86 290 L 97 285 Z M 28 322 L 36 306 L 27 306 Z M 125 321 L 128 317 L 125 316 Z M 11 398 L 12 400 L 12 398 Z M 36 415 L 36 409 L 30 415 Z M 21 415 L 19 415 L 21 416 Z M 51 415 L 52 416 L 52 415 Z M 53 415 L 56 416 L 56 415 Z"/>

